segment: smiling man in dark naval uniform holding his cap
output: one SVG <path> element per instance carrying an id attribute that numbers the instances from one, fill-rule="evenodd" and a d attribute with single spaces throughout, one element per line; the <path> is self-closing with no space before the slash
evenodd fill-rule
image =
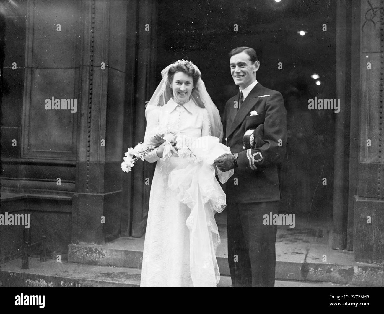
<path id="1" fill-rule="evenodd" d="M 238 47 L 229 53 L 230 71 L 239 93 L 227 101 L 222 119 L 223 143 L 232 154 L 215 159 L 217 168 L 234 168 L 228 181 L 228 262 L 233 287 L 275 286 L 276 225 L 264 225 L 263 216 L 278 213 L 280 187 L 276 164 L 285 155 L 286 110 L 278 91 L 256 80 L 255 50 Z M 243 148 L 245 131 L 264 125 L 261 146 Z"/>

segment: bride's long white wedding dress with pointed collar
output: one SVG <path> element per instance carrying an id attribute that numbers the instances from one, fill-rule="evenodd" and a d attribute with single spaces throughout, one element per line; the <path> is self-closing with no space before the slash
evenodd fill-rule
<path id="1" fill-rule="evenodd" d="M 164 106 L 148 107 L 146 118 L 147 128 L 144 141 L 154 135 L 154 130 L 158 126 L 163 130 L 167 129 L 177 133 L 179 140 L 183 139 L 190 143 L 202 136 L 211 135 L 208 111 L 197 106 L 192 99 L 184 105 L 178 105 L 170 98 Z M 208 137 L 208 139 L 212 141 L 217 138 Z M 210 146 L 212 145 L 210 144 Z M 215 286 L 220 278 L 216 257 L 212 256 L 207 260 L 206 257 L 209 254 L 202 255 L 204 250 L 215 255 L 214 250 L 219 237 L 213 218 L 214 211 L 211 209 L 220 211 L 220 202 L 224 202 L 221 204 L 222 208 L 225 206 L 225 194 L 220 194 L 222 190 L 220 186 L 215 185 L 218 185 L 217 181 L 212 181 L 215 180 L 214 174 L 210 176 L 207 183 L 200 178 L 200 185 L 207 184 L 208 188 L 203 190 L 200 187 L 201 190 L 197 191 L 198 188 L 194 188 L 194 186 L 196 187 L 197 181 L 199 181 L 197 180 L 198 173 L 200 176 L 202 173 L 202 168 L 198 167 L 197 163 L 190 163 L 175 153 L 169 158 L 159 158 L 156 150 L 146 155 L 145 159 L 149 162 L 157 161 L 157 164 L 151 183 L 140 286 Z M 182 170 L 177 172 L 178 169 Z M 209 172 L 211 169 L 204 171 Z M 194 196 L 192 197 L 191 194 Z M 213 202 L 215 203 L 213 205 L 209 203 L 210 206 L 205 206 L 202 202 L 207 201 L 208 198 L 217 201 Z M 201 199 L 204 200 L 201 201 Z M 204 206 L 205 209 L 202 209 Z M 211 209 L 208 209 L 209 207 Z M 191 215 L 191 208 L 194 215 Z M 202 221 L 204 223 L 201 223 Z M 190 236 L 195 240 L 191 242 Z M 199 252 L 199 248 L 201 252 Z"/>

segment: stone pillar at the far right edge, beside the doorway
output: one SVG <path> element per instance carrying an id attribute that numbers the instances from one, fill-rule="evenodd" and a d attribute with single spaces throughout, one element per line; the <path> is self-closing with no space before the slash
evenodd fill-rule
<path id="1" fill-rule="evenodd" d="M 384 259 L 384 1 L 361 0 L 358 189 L 354 202 L 356 261 Z"/>

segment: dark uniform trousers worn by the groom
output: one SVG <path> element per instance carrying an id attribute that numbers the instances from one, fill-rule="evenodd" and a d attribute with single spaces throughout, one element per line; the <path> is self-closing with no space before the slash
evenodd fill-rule
<path id="1" fill-rule="evenodd" d="M 265 214 L 278 214 L 278 203 L 227 203 L 228 263 L 233 287 L 275 286 L 277 226 L 263 221 Z"/>

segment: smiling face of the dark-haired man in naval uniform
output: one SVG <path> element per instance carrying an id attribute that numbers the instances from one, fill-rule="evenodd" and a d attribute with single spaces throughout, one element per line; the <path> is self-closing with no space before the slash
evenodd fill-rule
<path id="1" fill-rule="evenodd" d="M 233 81 L 242 90 L 256 80 L 256 71 L 260 66 L 259 61 L 252 63 L 247 53 L 240 52 L 237 55 L 233 55 L 229 62 Z"/>

